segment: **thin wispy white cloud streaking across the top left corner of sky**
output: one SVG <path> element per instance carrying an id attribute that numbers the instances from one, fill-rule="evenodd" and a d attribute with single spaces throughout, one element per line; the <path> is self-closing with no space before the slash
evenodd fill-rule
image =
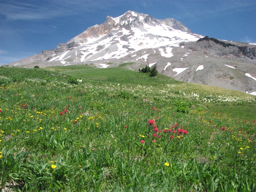
<path id="1" fill-rule="evenodd" d="M 108 9 L 107 1 L 7 1 L 1 3 L 0 12 L 8 20 L 39 20 L 71 16 Z"/>

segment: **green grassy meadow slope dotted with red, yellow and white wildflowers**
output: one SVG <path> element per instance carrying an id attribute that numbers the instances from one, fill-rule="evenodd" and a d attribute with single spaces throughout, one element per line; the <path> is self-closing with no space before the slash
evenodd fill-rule
<path id="1" fill-rule="evenodd" d="M 2 67 L 0 187 L 255 191 L 255 109 L 248 94 L 122 67 Z"/>

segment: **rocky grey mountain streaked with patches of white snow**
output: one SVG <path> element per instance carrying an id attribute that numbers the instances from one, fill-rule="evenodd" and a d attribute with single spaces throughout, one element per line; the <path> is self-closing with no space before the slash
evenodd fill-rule
<path id="1" fill-rule="evenodd" d="M 204 37 L 175 19 L 128 11 L 116 18 L 107 16 L 103 24 L 89 27 L 56 49 L 9 65 L 114 67 L 134 62 L 129 68 L 138 70 L 157 64 L 159 72 L 178 80 L 253 92 L 255 54 L 255 45 Z"/>

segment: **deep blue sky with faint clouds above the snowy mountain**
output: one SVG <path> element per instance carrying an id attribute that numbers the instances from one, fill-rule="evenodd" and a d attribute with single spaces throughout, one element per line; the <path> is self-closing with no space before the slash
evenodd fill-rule
<path id="1" fill-rule="evenodd" d="M 0 64 L 55 49 L 128 10 L 174 18 L 200 35 L 256 43 L 255 0 L 0 0 Z"/>

